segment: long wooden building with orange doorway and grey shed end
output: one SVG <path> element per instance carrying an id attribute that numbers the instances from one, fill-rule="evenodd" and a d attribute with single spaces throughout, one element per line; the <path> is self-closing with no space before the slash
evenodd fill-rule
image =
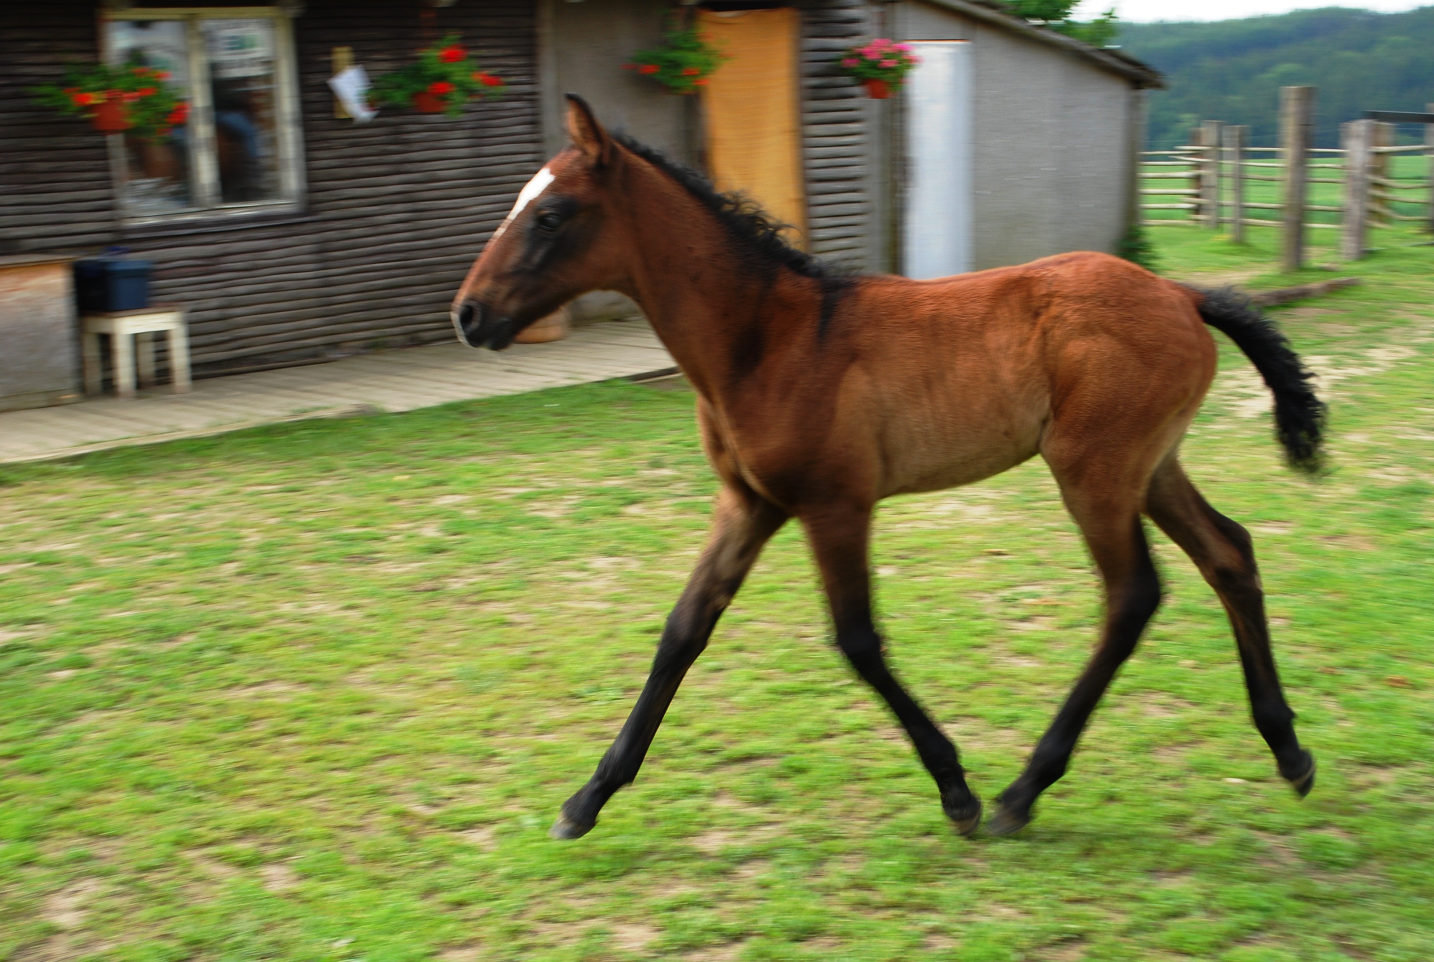
<path id="1" fill-rule="evenodd" d="M 562 145 L 565 90 L 747 189 L 815 252 L 934 275 L 1114 249 L 1136 212 L 1141 92 L 1159 86 L 975 0 L 138 3 L 0 13 L 0 257 L 119 245 L 153 261 L 153 298 L 188 308 L 199 377 L 452 337 L 463 272 Z M 622 69 L 674 14 L 731 53 L 700 99 Z M 457 119 L 336 109 L 336 65 L 379 75 L 449 32 L 506 96 Z M 835 63 L 873 36 L 925 60 L 891 100 Z M 166 149 L 32 103 L 66 62 L 129 50 L 189 90 L 198 119 Z"/>

